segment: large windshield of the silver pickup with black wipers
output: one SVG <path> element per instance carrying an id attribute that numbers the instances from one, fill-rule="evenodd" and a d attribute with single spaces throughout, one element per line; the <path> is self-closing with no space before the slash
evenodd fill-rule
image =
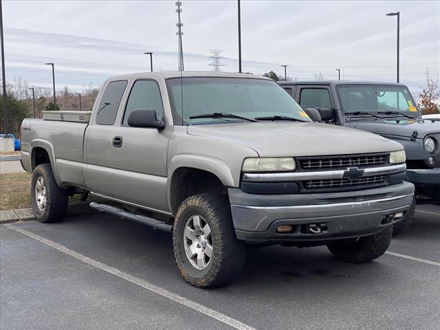
<path id="1" fill-rule="evenodd" d="M 289 94 L 271 80 L 187 77 L 170 78 L 167 85 L 178 124 L 249 122 L 274 116 L 310 121 Z"/>

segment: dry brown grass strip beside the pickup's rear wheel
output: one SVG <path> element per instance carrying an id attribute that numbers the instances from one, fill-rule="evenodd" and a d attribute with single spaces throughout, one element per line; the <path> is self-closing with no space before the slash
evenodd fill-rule
<path id="1" fill-rule="evenodd" d="M 15 210 L 17 208 L 32 208 L 30 199 L 31 173 L 3 173 L 0 175 L 0 210 Z M 80 203 L 81 196 L 69 197 L 69 204 Z M 91 196 L 90 201 L 102 201 Z"/>

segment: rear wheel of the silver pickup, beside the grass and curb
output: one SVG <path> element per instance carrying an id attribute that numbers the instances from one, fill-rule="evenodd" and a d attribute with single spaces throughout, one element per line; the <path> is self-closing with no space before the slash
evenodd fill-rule
<path id="1" fill-rule="evenodd" d="M 61 221 L 67 212 L 68 195 L 56 184 L 50 164 L 36 166 L 30 188 L 32 208 L 41 222 Z"/>

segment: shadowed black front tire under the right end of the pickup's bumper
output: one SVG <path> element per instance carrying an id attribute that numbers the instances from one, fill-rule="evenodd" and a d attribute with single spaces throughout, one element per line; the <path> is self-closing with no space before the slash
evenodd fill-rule
<path id="1" fill-rule="evenodd" d="M 388 249 L 393 236 L 390 226 L 382 232 L 358 239 L 341 239 L 327 245 L 336 258 L 350 263 L 367 263 L 382 256 Z"/>

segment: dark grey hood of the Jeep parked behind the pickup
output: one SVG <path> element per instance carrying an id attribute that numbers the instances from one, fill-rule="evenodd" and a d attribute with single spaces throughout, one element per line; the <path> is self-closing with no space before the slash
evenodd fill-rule
<path id="1" fill-rule="evenodd" d="M 432 120 L 359 120 L 346 122 L 344 126 L 387 136 L 412 137 L 417 131 L 419 139 L 430 133 L 440 133 L 440 122 Z"/>

